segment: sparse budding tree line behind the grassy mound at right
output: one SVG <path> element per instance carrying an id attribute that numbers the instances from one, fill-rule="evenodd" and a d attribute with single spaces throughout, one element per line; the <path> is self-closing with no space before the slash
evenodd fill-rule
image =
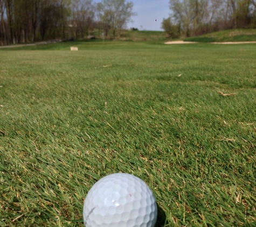
<path id="1" fill-rule="evenodd" d="M 170 0 L 169 6 L 162 28 L 172 38 L 256 28 L 256 0 Z"/>

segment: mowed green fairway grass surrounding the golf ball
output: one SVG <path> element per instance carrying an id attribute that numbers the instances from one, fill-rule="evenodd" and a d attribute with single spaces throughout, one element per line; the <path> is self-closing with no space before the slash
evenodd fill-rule
<path id="1" fill-rule="evenodd" d="M 255 226 L 255 59 L 253 44 L 0 50 L 0 225 L 82 226 L 88 190 L 125 172 L 153 190 L 156 227 Z"/>

